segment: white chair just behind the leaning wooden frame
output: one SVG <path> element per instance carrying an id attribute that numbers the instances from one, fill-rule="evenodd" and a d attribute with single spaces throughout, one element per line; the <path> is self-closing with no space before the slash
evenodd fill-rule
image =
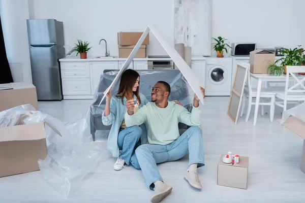
<path id="1" fill-rule="evenodd" d="M 250 78 L 250 63 L 241 63 L 242 65 L 247 65 L 248 68 L 248 77 L 247 81 L 245 84 L 245 88 L 243 90 L 243 97 L 242 97 L 242 107 L 241 107 L 241 112 L 240 112 L 240 117 L 242 117 L 243 110 L 245 109 L 246 105 L 246 98 L 248 96 L 248 110 L 247 110 L 247 115 L 246 115 L 246 122 L 249 120 L 250 112 L 251 112 L 251 107 L 252 105 L 255 105 L 255 102 L 252 102 L 252 98 L 255 98 L 257 95 L 257 88 L 252 88 L 251 86 L 251 78 Z M 270 106 L 270 122 L 273 122 L 273 117 L 275 115 L 275 100 L 276 100 L 276 93 L 272 92 L 272 90 L 267 89 L 267 88 L 262 88 L 261 93 L 261 102 L 259 105 L 261 105 L 261 114 L 262 116 L 264 115 L 264 106 Z M 263 102 L 265 99 L 268 98 L 265 102 Z M 257 118 L 254 118 L 256 120 Z"/>

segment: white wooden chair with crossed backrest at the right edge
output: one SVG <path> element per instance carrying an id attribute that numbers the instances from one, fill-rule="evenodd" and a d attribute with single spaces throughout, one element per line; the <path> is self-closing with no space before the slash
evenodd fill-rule
<path id="1" fill-rule="evenodd" d="M 284 111 L 287 110 L 287 104 L 298 104 L 300 101 L 305 101 L 305 86 L 303 85 L 305 76 L 301 76 L 301 79 L 299 79 L 295 75 L 295 73 L 305 73 L 305 66 L 287 65 L 286 70 L 285 90 L 275 90 L 276 98 L 280 99 L 275 104 L 283 107 Z M 293 82 L 291 87 L 289 87 L 290 82 Z"/>

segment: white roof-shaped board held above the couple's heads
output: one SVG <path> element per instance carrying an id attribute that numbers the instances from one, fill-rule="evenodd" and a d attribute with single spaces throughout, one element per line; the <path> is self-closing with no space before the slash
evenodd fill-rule
<path id="1" fill-rule="evenodd" d="M 180 70 L 182 75 L 185 77 L 187 82 L 190 84 L 192 90 L 197 94 L 197 96 L 199 97 L 199 99 L 201 101 L 201 104 L 203 105 L 204 104 L 203 103 L 203 95 L 202 95 L 201 90 L 199 88 L 199 86 L 204 88 L 203 84 L 201 83 L 201 81 L 197 80 L 197 76 L 195 75 L 194 71 L 190 68 L 190 66 L 186 63 L 186 61 L 179 55 L 179 53 L 173 47 L 171 47 L 163 39 L 163 37 L 161 36 L 160 32 L 156 29 L 156 27 L 153 24 L 151 24 L 151 25 L 148 25 L 146 27 L 146 29 L 143 32 L 141 38 L 139 39 L 139 41 L 137 42 L 136 46 L 134 47 L 134 49 L 132 50 L 132 52 L 128 56 L 128 58 L 125 61 L 124 65 L 119 70 L 118 74 L 116 75 L 116 77 L 112 81 L 111 85 L 104 92 L 103 98 L 102 98 L 99 106 L 102 104 L 102 101 L 106 97 L 106 94 L 108 93 L 109 89 L 112 86 L 116 86 L 117 85 L 117 83 L 119 82 L 119 79 L 120 79 L 121 75 L 123 74 L 123 72 L 128 69 L 129 64 L 131 63 L 131 61 L 135 57 L 136 53 L 138 52 L 140 46 L 142 45 L 142 43 L 143 43 L 144 39 L 146 38 L 146 36 L 148 35 L 149 31 L 151 31 L 155 35 L 155 37 L 160 42 L 162 47 L 168 53 L 169 57 L 174 61 L 175 65 L 178 67 L 178 69 Z"/>

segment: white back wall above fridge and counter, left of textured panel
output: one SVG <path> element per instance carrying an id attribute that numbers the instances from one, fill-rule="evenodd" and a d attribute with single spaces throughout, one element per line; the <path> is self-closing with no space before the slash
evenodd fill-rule
<path id="1" fill-rule="evenodd" d="M 105 39 L 110 55 L 118 56 L 118 31 L 144 31 L 154 23 L 164 38 L 174 42 L 173 0 L 34 0 L 35 18 L 54 18 L 64 22 L 65 44 L 81 39 L 93 46 L 88 57 L 105 55 Z M 157 39 L 149 36 L 148 55 L 166 54 Z"/>

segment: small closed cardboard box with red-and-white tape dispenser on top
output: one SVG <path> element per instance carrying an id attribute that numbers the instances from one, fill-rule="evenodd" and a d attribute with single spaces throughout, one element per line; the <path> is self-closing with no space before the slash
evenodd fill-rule
<path id="1" fill-rule="evenodd" d="M 247 189 L 249 157 L 240 156 L 239 163 L 224 163 L 223 156 L 218 163 L 217 185 Z"/>

